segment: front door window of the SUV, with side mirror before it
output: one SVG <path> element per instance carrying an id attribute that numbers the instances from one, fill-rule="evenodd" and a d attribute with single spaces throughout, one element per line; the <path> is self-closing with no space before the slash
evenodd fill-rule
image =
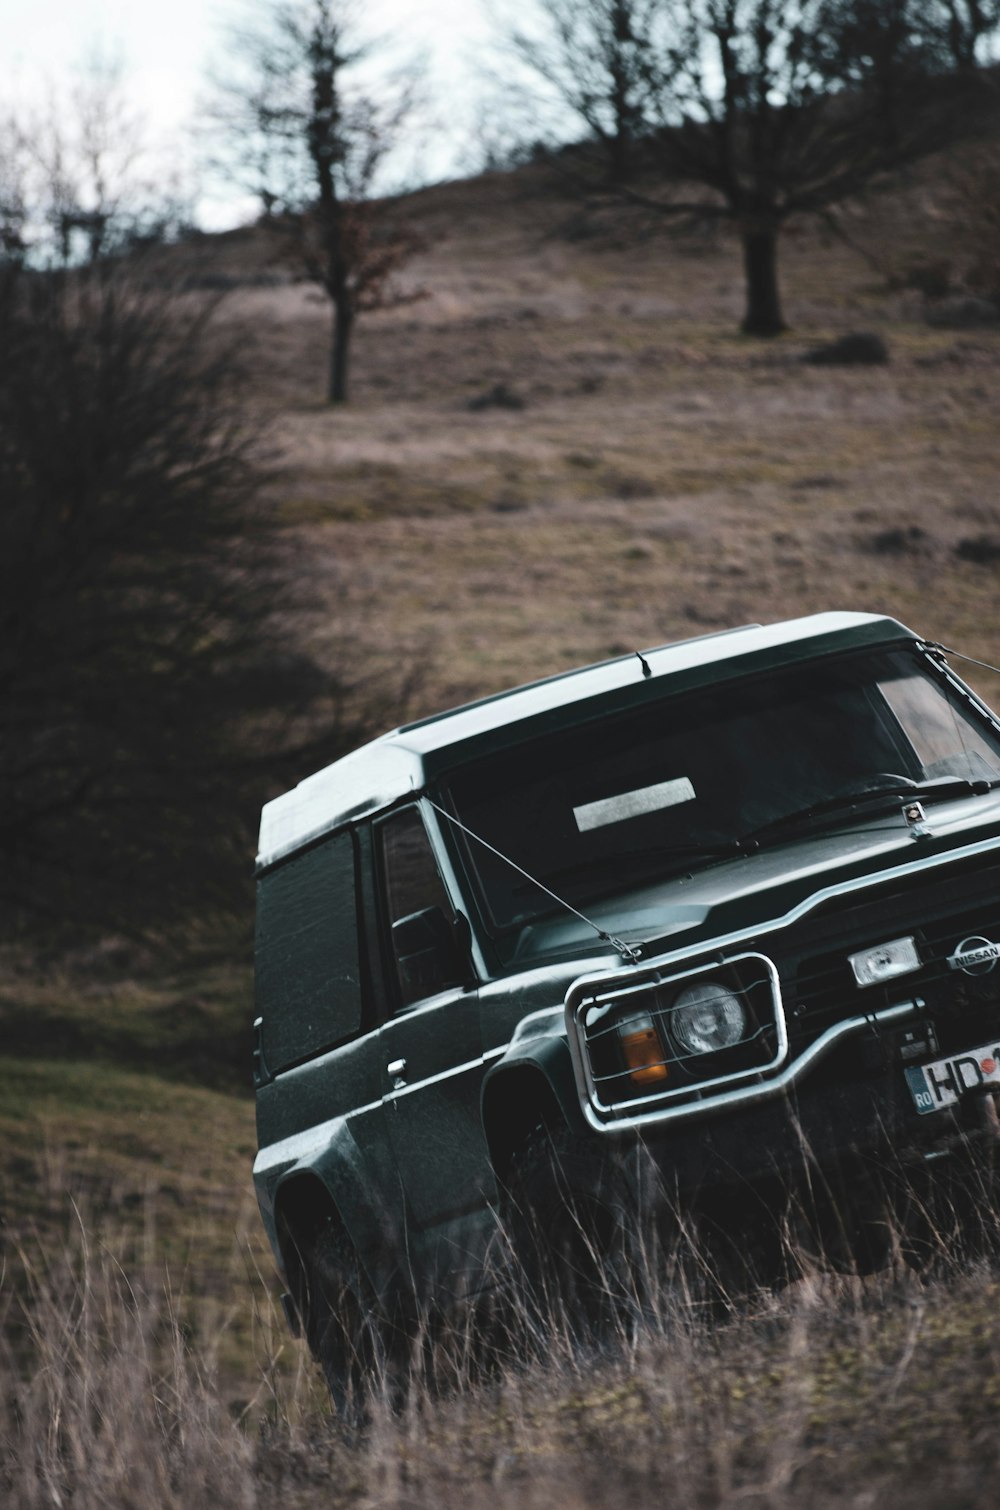
<path id="1" fill-rule="evenodd" d="M 409 1006 L 462 983 L 455 909 L 417 808 L 403 808 L 385 818 L 378 837 L 399 1001 Z"/>

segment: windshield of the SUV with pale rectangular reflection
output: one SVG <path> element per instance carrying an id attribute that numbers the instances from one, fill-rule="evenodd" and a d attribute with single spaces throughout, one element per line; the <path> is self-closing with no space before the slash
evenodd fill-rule
<path id="1" fill-rule="evenodd" d="M 1000 779 L 1000 735 L 915 652 L 814 661 L 566 728 L 456 773 L 473 834 L 574 906 L 677 876 L 837 794 Z M 850 823 L 852 814 L 828 818 Z M 793 837 L 795 826 L 781 834 Z M 494 935 L 557 911 L 462 838 Z"/>

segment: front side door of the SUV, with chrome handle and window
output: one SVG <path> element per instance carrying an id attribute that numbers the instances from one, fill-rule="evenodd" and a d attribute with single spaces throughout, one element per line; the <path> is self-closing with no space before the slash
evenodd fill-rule
<path id="1" fill-rule="evenodd" d="M 464 1232 L 482 1225 L 492 1194 L 480 1117 L 479 998 L 461 950 L 452 972 L 464 974 L 462 982 L 447 980 L 447 968 L 441 969 L 447 948 L 432 953 L 427 969 L 414 968 L 414 954 L 405 953 L 400 923 L 429 918 L 438 932 L 456 927 L 418 806 L 379 821 L 375 850 L 388 995 L 396 1007 L 381 1030 L 385 1122 L 411 1243 L 446 1277 L 465 1267 Z"/>

